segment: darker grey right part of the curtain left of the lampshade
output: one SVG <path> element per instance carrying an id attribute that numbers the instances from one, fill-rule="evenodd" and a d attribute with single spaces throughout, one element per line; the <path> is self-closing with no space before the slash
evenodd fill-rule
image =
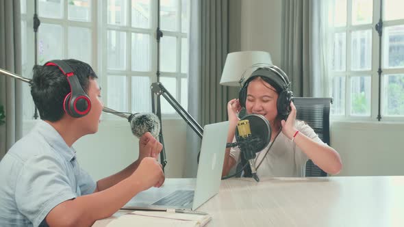
<path id="1" fill-rule="evenodd" d="M 201 8 L 201 123 L 227 119 L 227 87 L 219 84 L 228 53 L 228 1 L 204 0 Z"/>

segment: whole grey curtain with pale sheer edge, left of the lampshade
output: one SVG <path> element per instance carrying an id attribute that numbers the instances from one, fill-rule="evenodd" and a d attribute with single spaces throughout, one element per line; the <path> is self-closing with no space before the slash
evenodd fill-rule
<path id="1" fill-rule="evenodd" d="M 228 53 L 228 0 L 193 0 L 190 15 L 188 111 L 204 126 L 227 120 L 228 88 L 219 84 Z M 201 139 L 187 127 L 184 176 L 197 174 Z"/>

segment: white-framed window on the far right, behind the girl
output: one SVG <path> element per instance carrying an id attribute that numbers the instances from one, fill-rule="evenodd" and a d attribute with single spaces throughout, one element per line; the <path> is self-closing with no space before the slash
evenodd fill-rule
<path id="1" fill-rule="evenodd" d="M 338 0 L 333 12 L 331 96 L 334 117 L 376 119 L 381 61 L 381 118 L 404 117 L 404 14 L 400 0 L 382 0 L 379 57 L 379 0 Z"/>

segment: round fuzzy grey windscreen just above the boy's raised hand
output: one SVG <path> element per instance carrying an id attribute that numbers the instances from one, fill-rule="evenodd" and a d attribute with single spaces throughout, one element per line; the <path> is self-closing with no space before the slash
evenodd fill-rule
<path id="1" fill-rule="evenodd" d="M 132 114 L 129 117 L 132 133 L 138 138 L 142 137 L 144 133 L 151 133 L 153 137 L 157 138 L 160 133 L 160 120 L 155 114 L 139 113 Z"/>

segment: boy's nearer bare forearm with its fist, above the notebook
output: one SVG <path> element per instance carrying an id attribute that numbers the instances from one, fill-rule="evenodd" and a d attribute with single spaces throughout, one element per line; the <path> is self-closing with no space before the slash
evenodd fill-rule
<path id="1" fill-rule="evenodd" d="M 97 219 L 113 215 L 140 191 L 162 183 L 160 163 L 144 158 L 133 174 L 116 185 L 58 204 L 48 213 L 46 222 L 49 226 L 91 226 Z"/>

